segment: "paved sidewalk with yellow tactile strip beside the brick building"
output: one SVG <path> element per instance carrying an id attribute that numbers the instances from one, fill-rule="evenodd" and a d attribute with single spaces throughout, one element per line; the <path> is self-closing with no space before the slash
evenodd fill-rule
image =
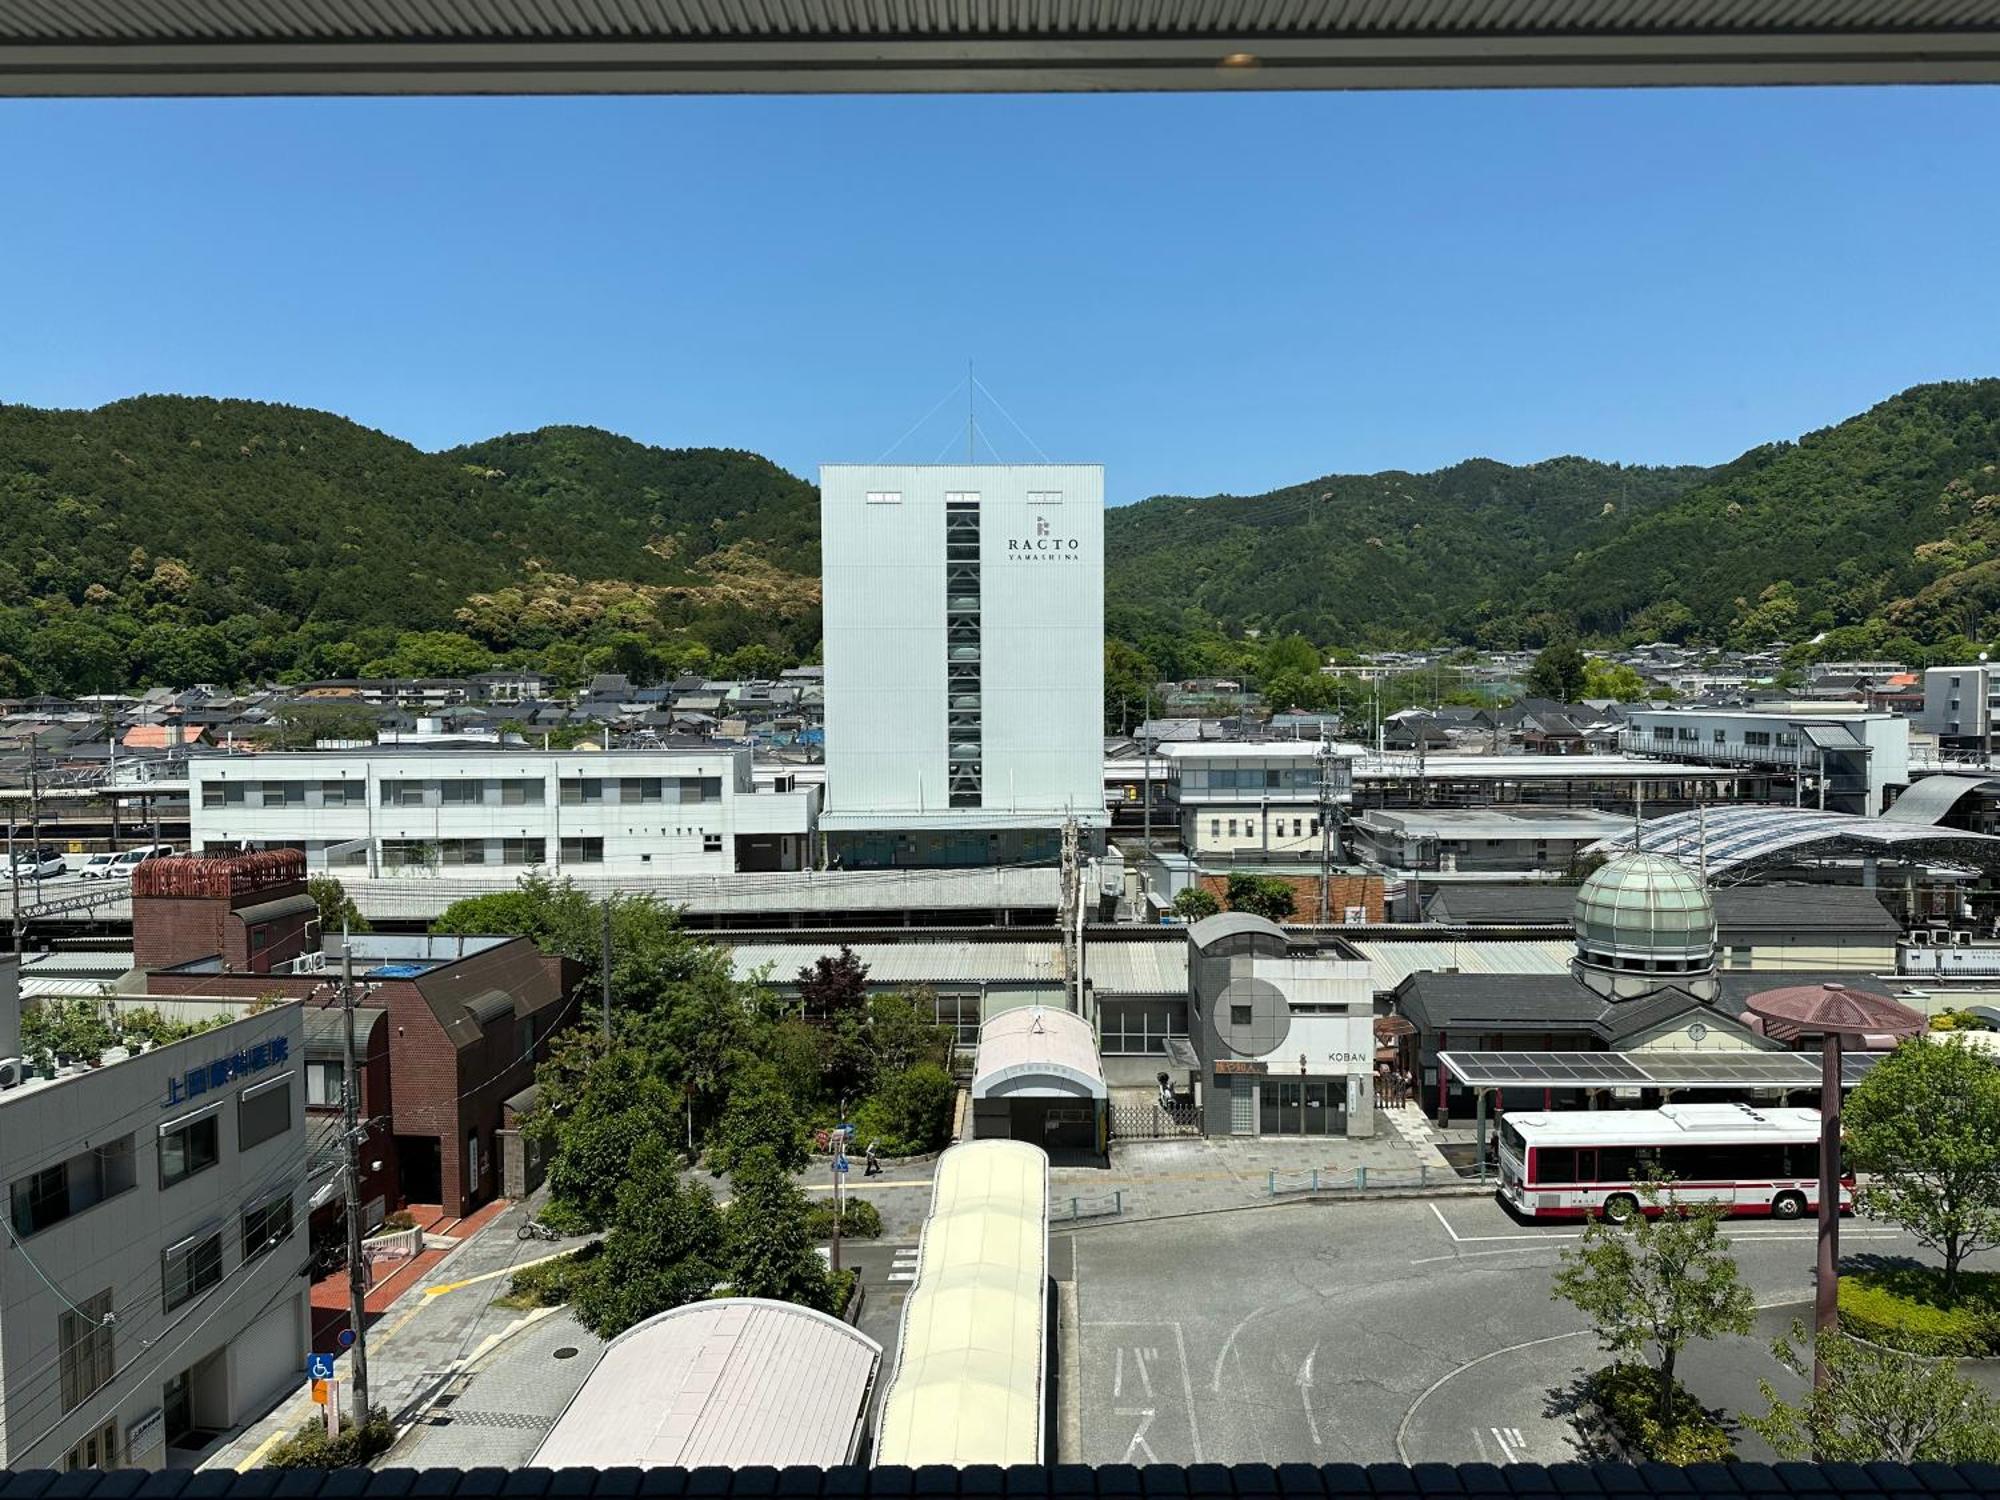
<path id="1" fill-rule="evenodd" d="M 458 1234 L 472 1230 L 454 1250 L 424 1252 L 370 1290 L 368 1398 L 374 1406 L 388 1410 L 392 1418 L 402 1414 L 488 1338 L 520 1318 L 518 1310 L 492 1306 L 496 1296 L 506 1294 L 518 1266 L 582 1244 L 518 1240 L 516 1230 L 524 1218 L 528 1208 L 522 1204 L 488 1204 L 454 1226 Z M 314 1308 L 314 1320 L 318 1316 L 320 1310 Z M 352 1392 L 350 1364 L 350 1356 L 342 1354 L 334 1366 L 342 1400 Z M 300 1358 L 298 1392 L 230 1436 L 202 1468 L 256 1468 L 270 1444 L 318 1410 L 304 1388 Z"/>

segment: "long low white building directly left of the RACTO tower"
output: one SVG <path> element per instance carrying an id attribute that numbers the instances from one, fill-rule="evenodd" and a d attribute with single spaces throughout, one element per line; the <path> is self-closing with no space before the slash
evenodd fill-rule
<path id="1" fill-rule="evenodd" d="M 818 788 L 758 788 L 742 748 L 196 756 L 188 800 L 196 854 L 300 848 L 336 874 L 496 884 L 800 870 L 818 816 Z"/>

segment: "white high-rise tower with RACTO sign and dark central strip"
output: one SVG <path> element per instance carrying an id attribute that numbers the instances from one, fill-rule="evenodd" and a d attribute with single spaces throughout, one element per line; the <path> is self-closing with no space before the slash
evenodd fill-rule
<path id="1" fill-rule="evenodd" d="M 1104 470 L 820 470 L 826 804 L 844 864 L 982 864 L 1104 822 Z"/>

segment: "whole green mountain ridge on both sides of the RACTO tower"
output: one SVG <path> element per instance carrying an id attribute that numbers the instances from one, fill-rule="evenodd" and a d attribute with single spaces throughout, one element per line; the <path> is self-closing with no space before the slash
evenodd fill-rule
<path id="1" fill-rule="evenodd" d="M 1322 648 L 1676 638 L 1974 648 L 2000 608 L 2000 380 L 1730 464 L 1334 474 L 1106 512 L 1132 674 Z M 818 650 L 818 496 L 758 454 L 550 426 L 446 452 L 328 412 L 0 404 L 0 694 L 540 664 L 768 672 Z M 1308 658 L 1310 660 L 1310 658 Z"/>

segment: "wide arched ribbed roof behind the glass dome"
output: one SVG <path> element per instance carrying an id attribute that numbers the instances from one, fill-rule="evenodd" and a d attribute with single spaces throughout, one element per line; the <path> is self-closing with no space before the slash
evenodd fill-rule
<path id="1" fill-rule="evenodd" d="M 1634 836 L 1628 832 L 1598 840 L 1590 852 L 1626 854 L 1632 846 Z M 1762 864 L 1826 854 L 1890 854 L 2000 866 L 2000 838 L 1994 834 L 1762 804 L 1648 818 L 1638 830 L 1638 848 L 1646 854 L 1666 854 L 1688 868 L 1706 868 L 1710 880 L 1744 874 Z"/>

